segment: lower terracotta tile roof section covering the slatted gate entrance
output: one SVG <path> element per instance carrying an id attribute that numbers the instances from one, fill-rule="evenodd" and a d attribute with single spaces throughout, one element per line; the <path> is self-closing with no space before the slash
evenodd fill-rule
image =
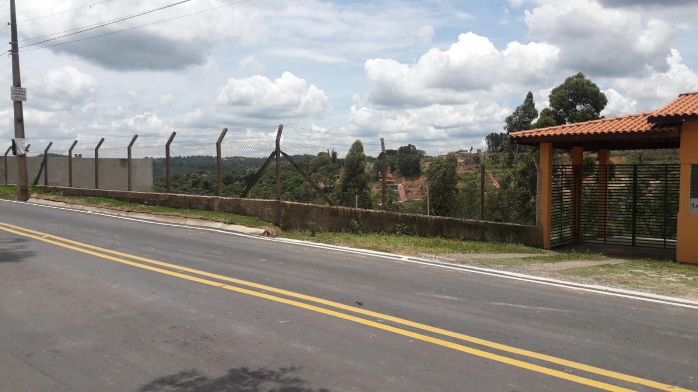
<path id="1" fill-rule="evenodd" d="M 632 133 L 636 135 L 641 133 L 655 134 L 676 131 L 680 128 L 680 126 L 676 124 L 648 123 L 648 117 L 653 114 L 655 114 L 655 112 L 644 112 L 611 117 L 609 119 L 566 124 L 563 126 L 522 130 L 510 133 L 509 137 L 514 140 L 540 139 L 540 141 L 544 142 L 546 139 L 550 138 L 574 137 L 576 135 L 621 135 L 623 133 Z"/>

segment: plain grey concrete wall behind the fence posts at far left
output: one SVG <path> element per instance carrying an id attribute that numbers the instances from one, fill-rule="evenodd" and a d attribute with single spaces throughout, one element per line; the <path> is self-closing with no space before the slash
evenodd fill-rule
<path id="1" fill-rule="evenodd" d="M 7 183 L 15 183 L 17 178 L 17 166 L 15 157 L 8 156 L 8 180 Z M 43 157 L 32 156 L 27 158 L 29 171 L 29 183 L 31 184 L 39 172 Z M 151 192 L 153 190 L 153 160 L 132 159 L 133 190 Z M 101 158 L 99 160 L 99 187 L 103 189 L 127 190 L 128 189 L 128 163 L 126 159 Z M 38 185 L 43 185 L 43 174 Z M 0 160 L 0 183 L 5 183 L 5 170 Z M 50 186 L 68 186 L 68 158 L 48 158 L 48 184 Z M 94 159 L 73 158 L 73 186 L 76 188 L 94 188 Z"/>

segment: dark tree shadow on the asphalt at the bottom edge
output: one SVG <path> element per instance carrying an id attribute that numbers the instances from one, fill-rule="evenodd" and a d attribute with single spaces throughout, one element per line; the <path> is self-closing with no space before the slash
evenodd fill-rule
<path id="1" fill-rule="evenodd" d="M 183 370 L 177 374 L 154 379 L 140 387 L 141 392 L 207 391 L 207 392 L 329 392 L 329 389 L 311 389 L 307 382 L 290 375 L 299 368 L 270 370 L 234 368 L 221 377 L 207 377 L 197 370 Z"/>

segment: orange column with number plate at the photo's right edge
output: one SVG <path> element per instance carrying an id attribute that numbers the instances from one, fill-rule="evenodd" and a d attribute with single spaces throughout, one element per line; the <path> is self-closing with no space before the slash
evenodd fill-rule
<path id="1" fill-rule="evenodd" d="M 676 260 L 698 264 L 698 213 L 690 212 L 691 165 L 698 165 L 698 121 L 685 121 L 681 126 L 681 188 L 676 232 Z M 696 186 L 694 183 L 693 187 Z"/>

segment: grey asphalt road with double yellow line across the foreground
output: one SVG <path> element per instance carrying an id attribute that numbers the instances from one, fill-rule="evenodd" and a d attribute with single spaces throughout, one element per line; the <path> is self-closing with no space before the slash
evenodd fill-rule
<path id="1" fill-rule="evenodd" d="M 0 391 L 698 389 L 698 310 L 0 201 Z"/>

